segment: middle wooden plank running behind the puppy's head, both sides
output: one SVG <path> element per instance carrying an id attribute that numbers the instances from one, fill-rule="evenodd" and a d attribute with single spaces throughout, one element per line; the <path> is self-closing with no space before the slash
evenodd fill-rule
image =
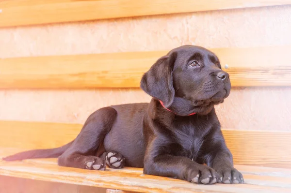
<path id="1" fill-rule="evenodd" d="M 210 49 L 233 87 L 291 86 L 291 46 Z M 137 88 L 167 51 L 0 59 L 0 89 Z"/>

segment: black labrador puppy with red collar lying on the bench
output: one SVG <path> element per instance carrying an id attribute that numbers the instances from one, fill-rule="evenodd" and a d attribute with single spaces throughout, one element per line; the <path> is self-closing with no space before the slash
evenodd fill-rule
<path id="1" fill-rule="evenodd" d="M 214 105 L 230 92 L 229 75 L 209 50 L 184 45 L 158 59 L 141 80 L 149 104 L 97 110 L 77 138 L 6 161 L 59 157 L 58 164 L 93 170 L 144 167 L 144 173 L 194 183 L 243 183 L 233 167 Z"/>

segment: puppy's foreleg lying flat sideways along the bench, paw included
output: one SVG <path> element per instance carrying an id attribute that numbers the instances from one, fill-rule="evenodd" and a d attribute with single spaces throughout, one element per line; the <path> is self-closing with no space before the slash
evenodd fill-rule
<path id="1" fill-rule="evenodd" d="M 198 164 L 187 157 L 169 154 L 147 155 L 144 173 L 203 184 L 214 184 L 217 181 L 216 172 L 207 165 Z"/>

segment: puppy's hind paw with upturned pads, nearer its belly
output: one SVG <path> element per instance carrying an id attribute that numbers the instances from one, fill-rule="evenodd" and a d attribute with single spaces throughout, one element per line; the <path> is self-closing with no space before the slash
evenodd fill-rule
<path id="1" fill-rule="evenodd" d="M 116 151 L 106 152 L 106 163 L 109 167 L 114 169 L 123 168 L 125 165 L 125 158 Z"/>

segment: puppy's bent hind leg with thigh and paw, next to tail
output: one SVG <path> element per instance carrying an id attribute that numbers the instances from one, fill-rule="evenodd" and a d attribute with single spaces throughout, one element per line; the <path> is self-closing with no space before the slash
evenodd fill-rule
<path id="1" fill-rule="evenodd" d="M 58 164 L 66 167 L 105 170 L 105 156 L 97 157 L 97 149 L 111 130 L 117 112 L 112 107 L 97 110 L 86 120 L 73 144 L 59 157 Z"/>

